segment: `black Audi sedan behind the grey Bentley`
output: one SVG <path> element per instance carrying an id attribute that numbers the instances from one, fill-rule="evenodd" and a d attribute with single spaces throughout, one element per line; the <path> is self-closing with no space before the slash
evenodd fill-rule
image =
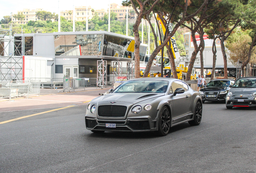
<path id="1" fill-rule="evenodd" d="M 234 82 L 234 80 L 229 79 L 211 80 L 206 87 L 199 91 L 202 103 L 205 101 L 225 101 L 226 95 Z"/>

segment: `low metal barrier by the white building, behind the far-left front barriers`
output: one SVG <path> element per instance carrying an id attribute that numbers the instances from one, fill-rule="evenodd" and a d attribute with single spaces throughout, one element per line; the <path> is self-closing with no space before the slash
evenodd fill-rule
<path id="1" fill-rule="evenodd" d="M 63 88 L 63 78 L 25 78 L 25 80 L 40 80 L 41 88 Z"/>

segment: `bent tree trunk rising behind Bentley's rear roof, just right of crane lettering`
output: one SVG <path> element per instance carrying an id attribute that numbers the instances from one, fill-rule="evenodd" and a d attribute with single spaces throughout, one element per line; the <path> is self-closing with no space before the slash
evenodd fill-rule
<path id="1" fill-rule="evenodd" d="M 191 37 L 192 37 L 192 41 L 193 41 L 193 45 L 194 45 L 195 50 L 193 51 L 192 56 L 190 58 L 190 63 L 188 65 L 188 72 L 187 72 L 185 80 L 190 80 L 191 74 L 192 74 L 192 70 L 193 70 L 193 66 L 194 66 L 194 62 L 196 60 L 196 55 L 199 52 L 199 48 L 198 48 L 197 43 L 196 43 L 196 35 L 195 34 L 196 34 L 196 31 L 193 30 L 191 32 Z"/>

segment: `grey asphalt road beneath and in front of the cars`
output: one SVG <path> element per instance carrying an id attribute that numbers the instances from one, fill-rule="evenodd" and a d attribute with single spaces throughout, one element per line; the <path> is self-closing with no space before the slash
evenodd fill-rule
<path id="1" fill-rule="evenodd" d="M 256 110 L 204 103 L 202 123 L 94 134 L 84 105 L 0 124 L 0 173 L 256 173 Z M 52 109 L 0 113 L 4 121 Z"/>

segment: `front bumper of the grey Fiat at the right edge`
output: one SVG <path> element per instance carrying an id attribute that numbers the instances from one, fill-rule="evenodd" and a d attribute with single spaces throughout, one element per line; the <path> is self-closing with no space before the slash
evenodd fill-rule
<path id="1" fill-rule="evenodd" d="M 238 102 L 238 99 L 244 100 L 243 102 Z M 246 98 L 237 98 L 237 97 L 229 97 L 229 100 L 226 99 L 226 106 L 229 107 L 256 107 L 256 100 L 254 97 L 246 97 Z"/>

